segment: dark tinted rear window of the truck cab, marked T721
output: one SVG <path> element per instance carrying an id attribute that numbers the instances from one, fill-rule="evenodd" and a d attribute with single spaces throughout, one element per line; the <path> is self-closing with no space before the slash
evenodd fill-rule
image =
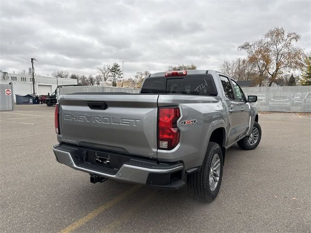
<path id="1" fill-rule="evenodd" d="M 149 78 L 141 93 L 217 96 L 214 80 L 209 74 Z"/>

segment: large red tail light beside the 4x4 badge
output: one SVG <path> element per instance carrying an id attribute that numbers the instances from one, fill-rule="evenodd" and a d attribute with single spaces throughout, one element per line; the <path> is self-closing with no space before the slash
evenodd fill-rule
<path id="1" fill-rule="evenodd" d="M 172 150 L 179 143 L 177 120 L 179 108 L 159 108 L 158 115 L 158 149 Z"/>

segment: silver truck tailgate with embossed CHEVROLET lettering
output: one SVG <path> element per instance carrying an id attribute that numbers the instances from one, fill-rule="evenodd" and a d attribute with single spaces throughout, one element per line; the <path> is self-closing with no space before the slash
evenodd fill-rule
<path id="1" fill-rule="evenodd" d="M 61 95 L 58 141 L 156 158 L 157 98 L 156 94 Z"/>

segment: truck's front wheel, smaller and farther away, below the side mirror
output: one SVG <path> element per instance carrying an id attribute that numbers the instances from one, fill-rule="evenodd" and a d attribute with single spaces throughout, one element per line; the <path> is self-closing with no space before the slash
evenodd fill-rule
<path id="1" fill-rule="evenodd" d="M 254 150 L 258 147 L 261 139 L 261 127 L 258 122 L 254 122 L 252 133 L 248 137 L 244 137 L 242 140 L 238 141 L 239 147 L 243 150 Z"/>

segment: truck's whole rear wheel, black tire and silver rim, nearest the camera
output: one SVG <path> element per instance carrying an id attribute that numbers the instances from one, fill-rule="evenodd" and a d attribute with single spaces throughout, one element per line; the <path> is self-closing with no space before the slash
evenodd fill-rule
<path id="1" fill-rule="evenodd" d="M 211 202 L 219 192 L 223 177 L 223 152 L 215 142 L 209 142 L 202 168 L 187 176 L 191 196 L 203 202 Z"/>

